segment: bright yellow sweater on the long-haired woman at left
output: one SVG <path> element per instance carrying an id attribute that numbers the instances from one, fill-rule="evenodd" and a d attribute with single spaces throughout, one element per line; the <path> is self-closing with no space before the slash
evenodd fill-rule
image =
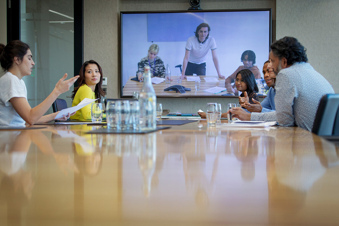
<path id="1" fill-rule="evenodd" d="M 78 105 L 85 98 L 95 99 L 95 93 L 86 84 L 78 89 L 74 96 L 72 107 Z M 81 108 L 75 113 L 75 115 L 71 116 L 71 119 L 91 120 L 91 106 L 92 103 L 89 103 L 85 107 Z"/>

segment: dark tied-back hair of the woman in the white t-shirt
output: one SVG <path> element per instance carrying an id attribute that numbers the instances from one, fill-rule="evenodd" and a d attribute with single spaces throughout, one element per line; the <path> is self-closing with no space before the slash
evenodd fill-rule
<path id="1" fill-rule="evenodd" d="M 20 40 L 8 42 L 6 46 L 0 44 L 0 64 L 4 71 L 12 67 L 14 57 L 19 57 L 22 60 L 28 49 L 29 46 Z"/>

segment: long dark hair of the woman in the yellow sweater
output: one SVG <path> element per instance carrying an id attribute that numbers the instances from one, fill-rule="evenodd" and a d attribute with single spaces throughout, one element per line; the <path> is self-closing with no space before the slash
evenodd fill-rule
<path id="1" fill-rule="evenodd" d="M 102 84 L 102 69 L 100 67 L 100 65 L 94 61 L 94 60 L 88 60 L 86 62 L 84 62 L 84 64 L 82 64 L 81 68 L 80 68 L 80 72 L 79 72 L 79 75 L 80 77 L 78 78 L 78 87 L 75 87 L 73 92 L 72 92 L 72 100 L 74 99 L 75 97 L 75 94 L 77 93 L 78 89 L 86 84 L 85 82 L 85 70 L 86 70 L 86 67 L 88 64 L 96 64 L 99 68 L 99 72 L 100 72 L 100 81 L 95 85 L 95 90 L 94 90 L 94 93 L 95 93 L 95 98 L 99 98 L 96 102 L 97 103 L 100 103 L 100 99 L 102 96 L 105 96 L 105 92 L 101 89 L 101 84 Z"/>

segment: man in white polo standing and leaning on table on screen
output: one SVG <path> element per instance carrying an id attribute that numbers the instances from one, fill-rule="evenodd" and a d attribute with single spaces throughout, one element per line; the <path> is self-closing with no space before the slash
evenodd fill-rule
<path id="1" fill-rule="evenodd" d="M 206 75 L 207 53 L 210 50 L 218 77 L 225 79 L 225 76 L 220 73 L 216 53 L 217 44 L 214 38 L 210 36 L 210 31 L 211 28 L 207 23 L 201 23 L 195 31 L 195 36 L 187 39 L 185 57 L 182 63 L 181 76 L 183 79 L 186 78 L 187 75 Z"/>

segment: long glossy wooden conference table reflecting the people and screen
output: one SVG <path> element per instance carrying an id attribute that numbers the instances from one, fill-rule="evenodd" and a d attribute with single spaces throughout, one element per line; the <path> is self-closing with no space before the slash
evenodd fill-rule
<path id="1" fill-rule="evenodd" d="M 338 225 L 339 149 L 298 127 L 0 130 L 0 225 Z"/>

